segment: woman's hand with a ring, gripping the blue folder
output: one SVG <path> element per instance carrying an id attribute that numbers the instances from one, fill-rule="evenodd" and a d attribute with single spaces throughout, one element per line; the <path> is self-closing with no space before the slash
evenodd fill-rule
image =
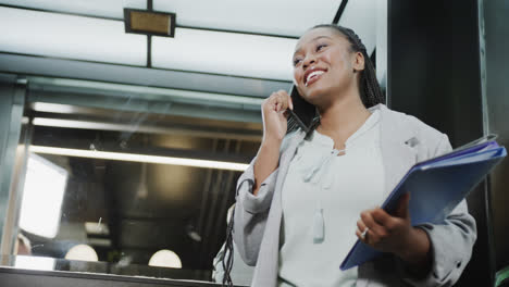
<path id="1" fill-rule="evenodd" d="M 430 238 L 423 229 L 411 226 L 409 200 L 410 195 L 404 195 L 393 215 L 381 208 L 361 212 L 356 234 L 362 242 L 376 250 L 394 253 L 411 265 L 429 265 Z M 362 237 L 367 227 L 368 232 Z"/>

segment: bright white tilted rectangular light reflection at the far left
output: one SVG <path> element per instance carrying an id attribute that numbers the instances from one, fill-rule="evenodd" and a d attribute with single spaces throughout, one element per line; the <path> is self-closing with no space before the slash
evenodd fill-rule
<path id="1" fill-rule="evenodd" d="M 67 172 L 57 164 L 30 154 L 20 215 L 20 227 L 34 235 L 53 238 L 60 225 Z"/>

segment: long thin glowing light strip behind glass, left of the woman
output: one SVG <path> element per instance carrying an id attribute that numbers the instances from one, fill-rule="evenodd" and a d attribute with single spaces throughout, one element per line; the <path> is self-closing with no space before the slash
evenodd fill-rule
<path id="1" fill-rule="evenodd" d="M 65 157 L 89 158 L 89 159 L 103 159 L 113 161 L 131 161 L 131 162 L 148 162 L 158 164 L 173 164 L 206 169 L 231 170 L 231 171 L 245 171 L 248 166 L 246 163 L 223 162 L 212 160 L 186 159 L 176 157 L 161 157 L 150 154 L 126 153 L 126 152 L 111 152 L 98 150 L 84 150 L 84 149 L 66 149 L 45 146 L 30 146 L 30 152 L 46 153 Z"/>

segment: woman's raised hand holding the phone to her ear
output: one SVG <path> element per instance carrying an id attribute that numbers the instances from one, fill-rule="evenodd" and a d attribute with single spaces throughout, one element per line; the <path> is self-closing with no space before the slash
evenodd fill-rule
<path id="1" fill-rule="evenodd" d="M 262 103 L 263 140 L 281 141 L 286 135 L 288 116 L 285 111 L 294 110 L 291 98 L 285 90 L 273 92 Z"/>

